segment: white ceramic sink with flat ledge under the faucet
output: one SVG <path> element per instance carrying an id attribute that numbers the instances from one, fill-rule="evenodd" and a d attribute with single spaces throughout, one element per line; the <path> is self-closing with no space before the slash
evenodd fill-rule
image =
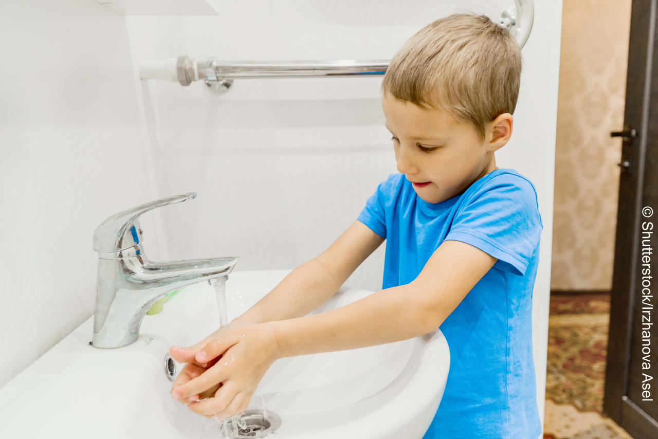
<path id="1" fill-rule="evenodd" d="M 288 272 L 230 274 L 229 318 Z M 315 312 L 368 294 L 343 287 Z M 170 398 L 165 358 L 171 344 L 189 346 L 218 325 L 215 290 L 205 282 L 145 316 L 139 340 L 125 348 L 89 346 L 90 318 L 0 389 L 0 436 L 219 438 L 216 425 Z M 255 396 L 249 409 L 261 409 L 265 400 L 281 419 L 278 439 L 420 438 L 442 398 L 449 363 L 440 330 L 370 348 L 284 358 L 265 374 L 263 398 Z M 181 366 L 174 365 L 175 375 Z"/>

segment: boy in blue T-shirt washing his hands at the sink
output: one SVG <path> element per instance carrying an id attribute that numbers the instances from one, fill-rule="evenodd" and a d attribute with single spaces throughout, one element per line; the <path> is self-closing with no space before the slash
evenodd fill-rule
<path id="1" fill-rule="evenodd" d="M 425 437 L 538 438 L 531 333 L 542 224 L 534 186 L 494 157 L 512 134 L 520 70 L 515 39 L 486 16 L 455 14 L 409 39 L 382 82 L 399 174 L 334 244 L 238 319 L 172 347 L 188 363 L 172 397 L 230 417 L 278 358 L 441 328 L 450 371 Z M 384 240 L 383 290 L 307 316 Z M 197 401 L 204 396 L 213 397 Z"/>

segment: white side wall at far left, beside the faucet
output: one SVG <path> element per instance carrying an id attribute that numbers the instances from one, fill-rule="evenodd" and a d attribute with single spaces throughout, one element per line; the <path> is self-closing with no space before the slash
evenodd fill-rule
<path id="1" fill-rule="evenodd" d="M 126 21 L 0 2 L 0 386 L 93 313 L 101 220 L 148 201 Z"/>

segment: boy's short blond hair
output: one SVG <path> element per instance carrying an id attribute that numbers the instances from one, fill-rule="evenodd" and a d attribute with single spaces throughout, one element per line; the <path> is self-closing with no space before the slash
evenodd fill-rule
<path id="1" fill-rule="evenodd" d="M 506 28 L 484 15 L 453 14 L 407 40 L 391 60 L 382 90 L 471 122 L 484 138 L 488 123 L 514 113 L 520 74 L 521 51 Z"/>

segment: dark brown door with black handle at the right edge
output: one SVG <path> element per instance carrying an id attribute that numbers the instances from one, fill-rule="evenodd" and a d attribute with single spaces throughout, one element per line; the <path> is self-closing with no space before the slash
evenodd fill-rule
<path id="1" fill-rule="evenodd" d="M 613 133 L 624 142 L 603 410 L 635 439 L 658 438 L 657 2 L 632 1 L 624 132 Z"/>

